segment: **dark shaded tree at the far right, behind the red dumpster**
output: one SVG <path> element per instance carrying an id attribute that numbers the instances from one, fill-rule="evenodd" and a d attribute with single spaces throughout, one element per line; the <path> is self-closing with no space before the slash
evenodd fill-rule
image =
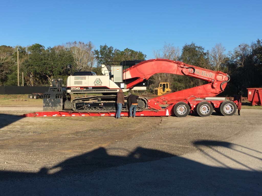
<path id="1" fill-rule="evenodd" d="M 258 39 L 251 45 L 242 43 L 234 48 L 225 66 L 230 75 L 230 82 L 225 94 L 247 96 L 247 88 L 262 87 L 262 46 Z"/>

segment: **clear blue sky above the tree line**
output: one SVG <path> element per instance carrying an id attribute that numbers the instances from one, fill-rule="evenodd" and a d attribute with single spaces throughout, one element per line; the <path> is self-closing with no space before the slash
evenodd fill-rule
<path id="1" fill-rule="evenodd" d="M 262 39 L 262 1 L 7 1 L 1 5 L 0 45 L 46 48 L 91 41 L 130 48 L 154 58 L 153 50 L 194 42 L 226 51 Z"/>

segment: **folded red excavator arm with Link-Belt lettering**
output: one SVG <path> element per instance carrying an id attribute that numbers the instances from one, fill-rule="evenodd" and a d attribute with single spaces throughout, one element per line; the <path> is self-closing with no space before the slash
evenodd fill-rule
<path id="1" fill-rule="evenodd" d="M 230 80 L 230 77 L 226 73 L 167 59 L 152 59 L 140 62 L 123 71 L 123 80 L 136 78 L 134 82 L 127 85 L 127 88 L 132 88 L 134 85 L 148 80 L 156 73 L 190 76 L 206 80 L 209 83 L 148 100 L 148 106 L 155 109 L 161 109 L 161 104 L 172 104 L 178 100 L 192 100 L 195 98 L 216 96 L 225 89 L 227 82 Z"/>

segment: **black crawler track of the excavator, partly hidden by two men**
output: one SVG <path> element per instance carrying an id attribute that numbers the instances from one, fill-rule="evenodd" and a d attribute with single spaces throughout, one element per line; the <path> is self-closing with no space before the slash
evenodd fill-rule
<path id="1" fill-rule="evenodd" d="M 125 104 L 122 112 L 128 112 L 128 96 L 124 96 Z M 76 98 L 72 101 L 72 110 L 76 112 L 116 112 L 117 95 L 90 96 Z M 137 112 L 144 111 L 148 107 L 148 99 L 139 97 Z"/>

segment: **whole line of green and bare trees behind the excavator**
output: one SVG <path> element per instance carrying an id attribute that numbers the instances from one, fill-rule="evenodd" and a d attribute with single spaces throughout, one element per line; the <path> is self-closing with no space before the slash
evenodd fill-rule
<path id="1" fill-rule="evenodd" d="M 93 71 L 101 74 L 101 64 L 108 61 L 145 60 L 146 54 L 129 48 L 119 50 L 112 46 L 100 45 L 95 49 L 92 42 L 68 42 L 64 45 L 45 48 L 41 44 L 28 47 L 0 46 L 0 85 L 17 85 L 17 50 L 19 52 L 19 71 L 24 73 L 24 85 L 49 85 L 52 78 L 70 75 L 67 65 L 74 71 Z M 223 92 L 224 96 L 242 94 L 247 96 L 246 88 L 262 87 L 262 44 L 258 39 L 249 44 L 242 43 L 233 51 L 225 53 L 222 44 L 216 44 L 210 51 L 195 43 L 185 44 L 180 50 L 172 44 L 164 43 L 154 51 L 154 57 L 182 61 L 230 75 L 230 82 Z M 21 74 L 20 83 L 22 81 Z M 205 84 L 205 81 L 186 76 L 159 73 L 149 80 L 149 91 L 159 82 L 169 82 L 173 91 L 188 89 Z"/>

